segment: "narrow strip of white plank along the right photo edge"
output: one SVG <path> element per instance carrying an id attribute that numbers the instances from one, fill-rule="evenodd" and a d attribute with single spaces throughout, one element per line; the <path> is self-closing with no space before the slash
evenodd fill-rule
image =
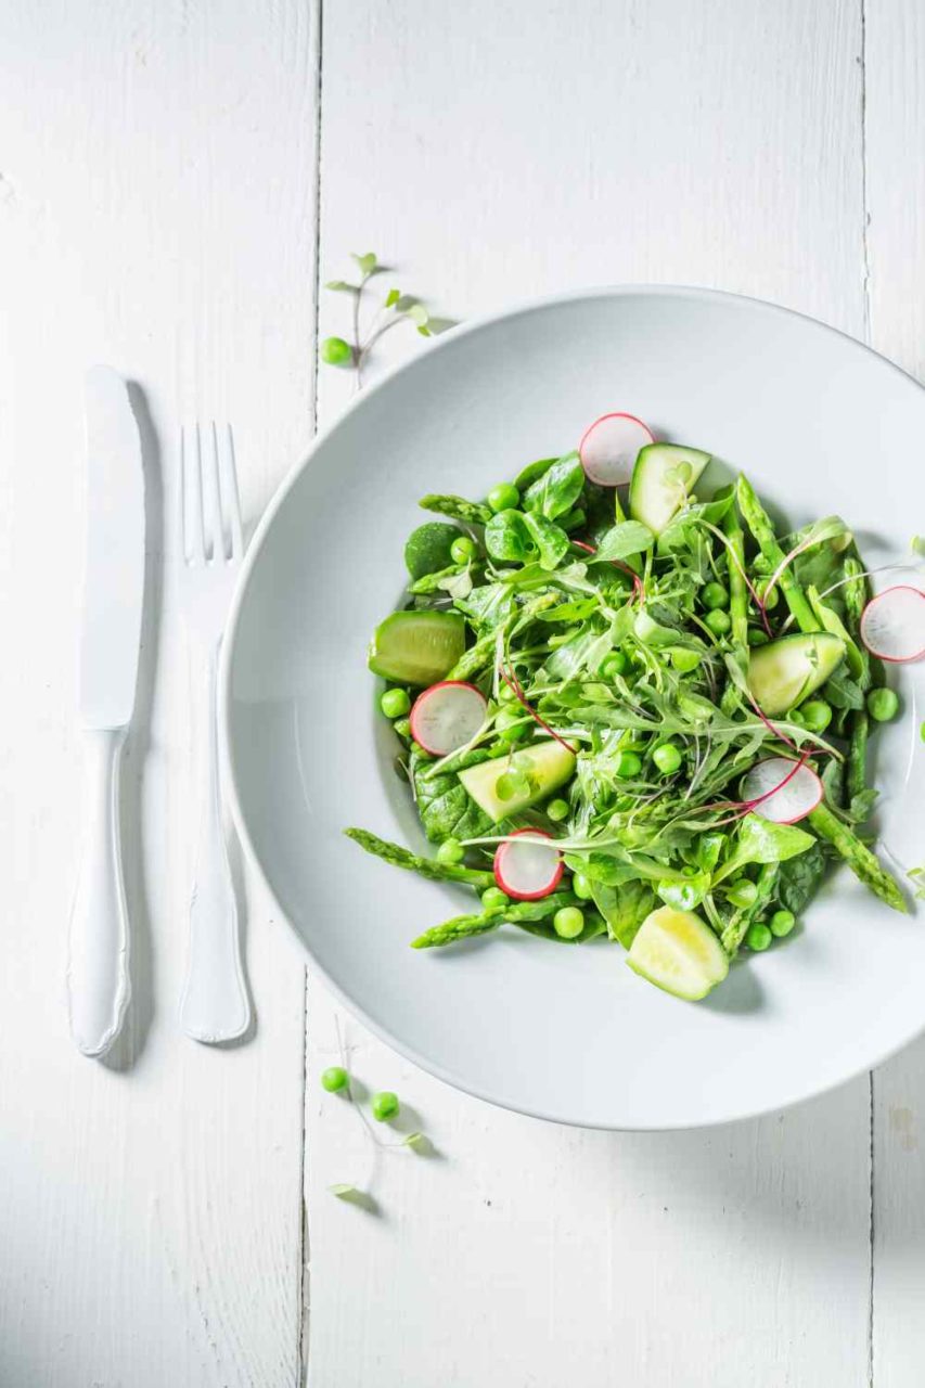
<path id="1" fill-rule="evenodd" d="M 914 0 L 868 0 L 865 28 L 871 337 L 925 379 L 925 14 Z M 872 1381 L 918 1388 L 925 1359 L 925 1042 L 875 1073 L 874 1098 Z"/>

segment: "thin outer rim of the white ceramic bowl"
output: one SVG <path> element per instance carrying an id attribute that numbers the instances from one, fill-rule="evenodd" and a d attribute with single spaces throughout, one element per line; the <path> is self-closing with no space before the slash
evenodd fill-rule
<path id="1" fill-rule="evenodd" d="M 476 1084 L 464 1083 L 457 1074 L 447 1070 L 444 1066 L 435 1063 L 426 1055 L 422 1055 L 419 1051 L 417 1051 L 412 1045 L 400 1041 L 388 1030 L 388 1027 L 379 1023 L 375 1017 L 369 1016 L 369 1013 L 367 1013 L 365 1009 L 351 997 L 349 997 L 349 994 L 346 994 L 344 990 L 331 977 L 328 970 L 317 959 L 315 954 L 310 948 L 301 931 L 289 919 L 289 915 L 282 902 L 279 901 L 279 897 L 276 895 L 271 877 L 267 869 L 264 867 L 264 862 L 250 834 L 242 798 L 239 794 L 238 772 L 236 772 L 233 745 L 231 737 L 232 665 L 235 659 L 235 647 L 238 641 L 238 627 L 240 622 L 242 609 L 244 605 L 244 598 L 250 586 L 250 577 L 261 555 L 267 536 L 269 534 L 269 530 L 274 525 L 278 512 L 285 505 L 289 493 L 294 489 L 303 472 L 312 464 L 315 454 L 324 448 L 326 441 L 331 437 L 333 437 L 338 433 L 338 430 L 343 428 L 346 421 L 357 409 L 361 409 L 369 398 L 378 396 L 379 391 L 382 390 L 388 390 L 396 376 L 404 372 L 414 371 L 415 365 L 424 361 L 425 357 L 429 357 L 435 351 L 439 353 L 447 347 L 451 347 L 461 337 L 472 336 L 483 330 L 485 328 L 490 328 L 494 323 L 500 323 L 507 319 L 529 316 L 532 314 L 544 312 L 549 308 L 581 303 L 582 300 L 590 301 L 600 298 L 628 298 L 633 296 L 639 296 L 643 298 L 686 298 L 701 303 L 715 303 L 715 304 L 722 303 L 736 308 L 757 310 L 758 312 L 762 314 L 794 318 L 804 323 L 811 325 L 815 329 L 819 329 L 824 335 L 829 335 L 835 339 L 840 339 L 846 343 L 850 343 L 853 348 L 868 354 L 879 364 L 890 368 L 892 372 L 894 372 L 901 379 L 907 380 L 917 390 L 925 393 L 925 386 L 919 380 L 917 380 L 915 376 L 912 376 L 910 372 L 899 366 L 894 361 L 890 361 L 889 357 L 885 357 L 882 353 L 876 351 L 868 343 L 860 341 L 860 339 L 853 337 L 851 333 L 847 333 L 840 328 L 833 328 L 831 323 L 826 323 L 819 318 L 814 318 L 811 314 L 803 314 L 796 308 L 789 308 L 785 304 L 775 304 L 771 300 L 757 298 L 756 296 L 751 294 L 739 294 L 731 290 L 708 289 L 696 285 L 672 285 L 672 283 L 625 283 L 625 285 L 599 285 L 599 286 L 590 285 L 583 289 L 565 290 L 556 294 L 544 294 L 528 300 L 515 300 L 507 307 L 497 310 L 496 312 L 483 314 L 464 323 L 458 323 L 454 328 L 447 329 L 446 333 L 440 333 L 440 336 L 436 340 L 428 344 L 424 353 L 415 353 L 407 361 L 401 361 L 397 365 L 390 366 L 388 371 L 382 373 L 382 376 L 378 380 L 367 386 L 362 391 L 358 391 L 353 397 L 353 400 L 338 414 L 338 416 L 331 421 L 329 425 L 325 425 L 324 429 L 319 429 L 315 433 L 306 454 L 289 468 L 282 482 L 276 487 L 276 491 L 267 504 L 247 545 L 240 566 L 240 572 L 238 575 L 238 582 L 235 584 L 235 591 L 232 595 L 228 619 L 225 623 L 225 634 L 221 643 L 219 670 L 218 670 L 218 733 L 221 740 L 224 765 L 228 769 L 228 776 L 225 777 L 225 788 L 228 794 L 232 820 L 251 867 L 256 870 L 258 880 L 262 883 L 262 887 L 269 895 L 269 899 L 274 902 L 276 911 L 292 930 L 300 947 L 307 954 L 311 967 L 324 980 L 326 988 L 333 994 L 336 1001 L 342 1006 L 344 1006 L 347 1012 L 350 1012 L 365 1027 L 368 1027 L 368 1030 L 372 1031 L 372 1034 L 378 1037 L 379 1041 L 385 1042 L 393 1051 L 397 1051 L 399 1055 L 403 1055 L 406 1059 L 419 1066 L 428 1074 L 432 1074 L 436 1078 L 442 1080 L 444 1084 L 449 1084 L 451 1088 L 460 1090 L 464 1094 L 469 1094 L 474 1098 L 483 1099 L 486 1103 L 493 1103 L 496 1108 L 507 1109 L 511 1113 L 522 1113 L 526 1117 L 539 1119 L 547 1123 L 558 1123 L 564 1127 L 582 1127 L 607 1133 L 683 1133 L 683 1131 L 694 1131 L 699 1128 L 721 1127 L 728 1123 L 744 1123 L 751 1119 L 764 1117 L 768 1113 L 779 1113 L 783 1112 L 785 1109 L 794 1108 L 796 1105 L 808 1103 L 811 1099 L 821 1098 L 825 1094 L 831 1094 L 835 1090 L 839 1090 L 844 1084 L 850 1084 L 860 1076 L 869 1073 L 871 1070 L 883 1065 L 892 1056 L 899 1055 L 899 1052 L 903 1051 L 907 1045 L 910 1045 L 912 1041 L 925 1034 L 925 1009 L 922 1012 L 921 1023 L 914 1031 L 907 1034 L 903 1040 L 897 1041 L 894 1045 L 889 1045 L 885 1049 L 879 1051 L 876 1055 L 871 1056 L 871 1059 L 865 1065 L 856 1066 L 853 1070 L 850 1070 L 840 1078 L 822 1084 L 818 1088 L 794 1092 L 792 1097 L 785 1098 L 782 1102 L 778 1101 L 774 1105 L 765 1103 L 744 1110 L 718 1113 L 697 1122 L 661 1120 L 653 1123 L 639 1123 L 633 1126 L 614 1124 L 612 1122 L 593 1123 L 589 1122 L 588 1117 L 569 1117 L 568 1115 L 564 1113 L 550 1113 L 539 1108 L 519 1106 L 511 1102 L 508 1098 L 504 1098 L 497 1092 L 492 1092 L 488 1088 L 483 1088 Z"/>

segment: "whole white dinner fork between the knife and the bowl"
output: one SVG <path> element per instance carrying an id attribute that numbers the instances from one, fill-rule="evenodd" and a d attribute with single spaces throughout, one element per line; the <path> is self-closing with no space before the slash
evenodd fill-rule
<path id="1" fill-rule="evenodd" d="M 203 437 L 206 434 L 206 437 Z M 222 824 L 218 655 L 235 575 L 244 554 L 231 425 L 181 430 L 179 589 L 193 688 L 204 697 L 204 765 L 189 908 L 189 959 L 181 1026 L 196 1041 L 233 1041 L 250 1026 L 238 901 Z"/>

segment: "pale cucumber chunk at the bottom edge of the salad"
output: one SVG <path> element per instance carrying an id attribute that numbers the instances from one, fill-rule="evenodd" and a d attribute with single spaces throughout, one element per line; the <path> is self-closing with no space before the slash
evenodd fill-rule
<path id="1" fill-rule="evenodd" d="M 693 911 L 651 911 L 629 947 L 626 963 L 674 998 L 697 1002 L 729 973 L 729 958 Z"/>

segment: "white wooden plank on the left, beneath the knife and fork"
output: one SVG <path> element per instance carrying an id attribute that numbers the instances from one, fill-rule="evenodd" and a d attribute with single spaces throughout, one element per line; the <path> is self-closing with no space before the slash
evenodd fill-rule
<path id="1" fill-rule="evenodd" d="M 256 1037 L 181 1035 L 194 797 L 161 561 L 181 418 L 233 419 L 250 516 L 310 437 L 315 12 L 7 6 L 0 54 L 0 1381 L 279 1388 L 300 1374 L 303 959 L 254 894 Z M 108 1065 L 72 1047 L 62 990 L 97 359 L 144 393 L 153 579 L 125 797 L 135 1005 Z"/>

